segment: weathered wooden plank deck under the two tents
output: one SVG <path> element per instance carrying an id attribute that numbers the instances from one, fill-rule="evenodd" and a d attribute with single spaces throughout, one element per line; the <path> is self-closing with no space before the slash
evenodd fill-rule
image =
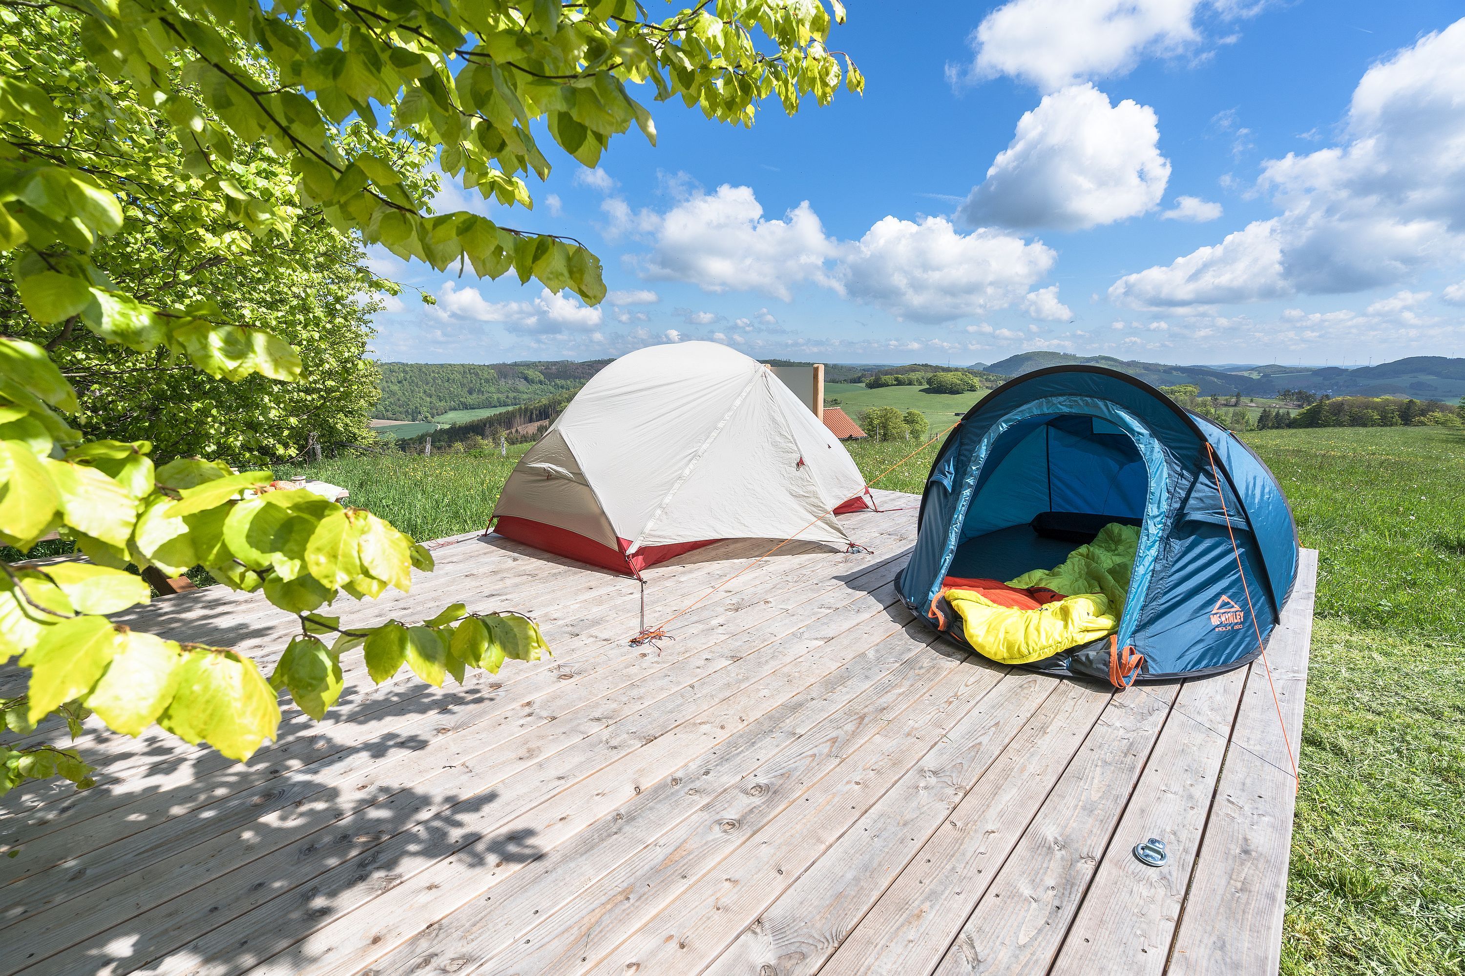
<path id="1" fill-rule="evenodd" d="M 97 787 L 0 800 L 0 970 L 1275 973 L 1294 790 L 1261 666 L 1112 694 L 967 656 L 898 603 L 917 500 L 879 496 L 844 519 L 873 553 L 785 549 L 659 650 L 628 645 L 633 581 L 464 538 L 347 622 L 514 607 L 554 660 L 437 691 L 357 657 L 248 765 L 88 735 Z M 649 619 L 753 552 L 649 571 Z M 1294 751 L 1314 575 L 1270 645 Z M 292 629 L 221 587 L 138 625 L 267 670 Z"/>

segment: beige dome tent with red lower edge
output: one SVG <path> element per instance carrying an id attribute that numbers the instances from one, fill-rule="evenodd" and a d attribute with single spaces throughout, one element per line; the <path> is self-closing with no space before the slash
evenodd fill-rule
<path id="1" fill-rule="evenodd" d="M 869 498 L 844 445 L 762 363 L 678 342 L 585 385 L 508 476 L 494 531 L 639 575 L 722 538 L 845 544 L 834 512 Z"/>

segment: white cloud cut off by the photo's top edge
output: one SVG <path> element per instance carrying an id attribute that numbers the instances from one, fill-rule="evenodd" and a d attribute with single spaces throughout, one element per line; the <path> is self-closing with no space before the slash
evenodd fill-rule
<path id="1" fill-rule="evenodd" d="M 1203 18 L 1231 20 L 1263 6 L 1254 0 L 1012 0 L 971 32 L 974 60 L 948 66 L 946 75 L 952 82 L 1009 75 L 1055 91 L 1124 75 L 1141 57 L 1194 53 L 1204 42 Z"/>

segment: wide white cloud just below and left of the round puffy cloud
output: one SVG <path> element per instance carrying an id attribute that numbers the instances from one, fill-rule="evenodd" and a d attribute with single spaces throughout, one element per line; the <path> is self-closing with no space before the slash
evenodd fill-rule
<path id="1" fill-rule="evenodd" d="M 886 217 L 854 241 L 839 281 L 860 301 L 908 322 L 949 322 L 1021 299 L 1056 259 L 1040 241 L 993 230 L 958 233 L 948 221 Z"/>

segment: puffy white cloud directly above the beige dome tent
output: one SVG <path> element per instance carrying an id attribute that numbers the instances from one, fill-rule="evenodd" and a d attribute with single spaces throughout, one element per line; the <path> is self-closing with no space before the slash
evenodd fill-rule
<path id="1" fill-rule="evenodd" d="M 763 219 L 747 186 L 693 193 L 656 221 L 656 247 L 643 275 L 690 281 L 703 291 L 762 291 L 788 301 L 795 284 L 829 284 L 837 244 L 807 200 L 784 219 Z"/>

